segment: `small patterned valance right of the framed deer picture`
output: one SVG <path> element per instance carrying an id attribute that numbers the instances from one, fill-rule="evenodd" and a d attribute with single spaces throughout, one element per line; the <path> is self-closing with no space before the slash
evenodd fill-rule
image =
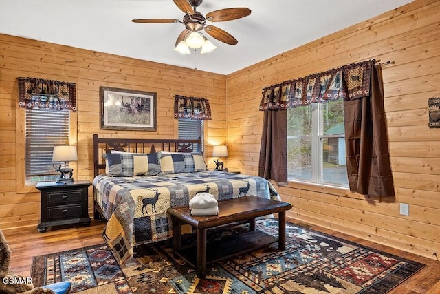
<path id="1" fill-rule="evenodd" d="M 212 114 L 208 99 L 175 95 L 174 118 L 211 120 Z"/>

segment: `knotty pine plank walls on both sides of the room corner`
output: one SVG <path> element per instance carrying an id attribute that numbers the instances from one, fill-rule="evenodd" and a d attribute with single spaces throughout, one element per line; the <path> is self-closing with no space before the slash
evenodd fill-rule
<path id="1" fill-rule="evenodd" d="M 92 180 L 92 134 L 177 136 L 174 94 L 210 99 L 214 120 L 207 123 L 206 144 L 227 140 L 225 166 L 258 174 L 263 87 L 380 59 L 395 62 L 383 69 L 395 200 L 298 182 L 277 189 L 294 205 L 289 216 L 433 258 L 440 253 L 440 129 L 427 126 L 427 101 L 440 93 L 439 19 L 440 1 L 415 0 L 228 76 L 0 34 L 0 228 L 39 219 L 39 194 L 15 189 L 17 76 L 77 83 L 78 179 Z M 101 85 L 157 92 L 157 132 L 100 131 Z M 399 216 L 399 202 L 410 204 L 410 216 Z"/>

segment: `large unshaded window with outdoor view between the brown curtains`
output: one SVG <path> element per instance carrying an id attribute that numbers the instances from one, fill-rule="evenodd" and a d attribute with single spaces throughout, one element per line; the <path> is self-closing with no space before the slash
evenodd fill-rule
<path id="1" fill-rule="evenodd" d="M 348 187 L 345 162 L 344 101 L 287 109 L 287 175 Z"/>

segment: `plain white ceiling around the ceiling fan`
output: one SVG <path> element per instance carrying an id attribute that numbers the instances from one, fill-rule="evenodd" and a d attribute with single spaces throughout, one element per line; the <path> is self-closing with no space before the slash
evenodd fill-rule
<path id="1" fill-rule="evenodd" d="M 412 0 L 205 0 L 206 15 L 248 7 L 252 14 L 215 25 L 239 43 L 208 54 L 173 50 L 181 23 L 133 23 L 131 19 L 182 19 L 172 0 L 1 0 L 0 33 L 99 52 L 230 74 L 310 41 L 393 10 Z M 1 52 L 0 52 L 1 54 Z"/>

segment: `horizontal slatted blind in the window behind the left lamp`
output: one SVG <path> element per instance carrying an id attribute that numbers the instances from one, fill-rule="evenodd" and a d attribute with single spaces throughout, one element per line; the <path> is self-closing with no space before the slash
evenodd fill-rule
<path id="1" fill-rule="evenodd" d="M 69 111 L 26 109 L 26 176 L 56 174 L 52 153 L 69 145 Z"/>

